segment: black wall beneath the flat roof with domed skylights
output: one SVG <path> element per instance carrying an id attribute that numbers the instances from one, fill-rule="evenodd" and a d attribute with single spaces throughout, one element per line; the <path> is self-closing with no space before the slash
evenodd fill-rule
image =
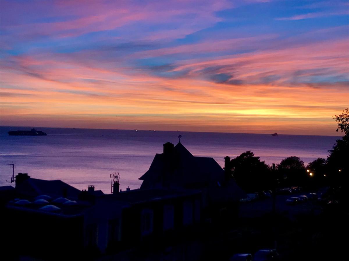
<path id="1" fill-rule="evenodd" d="M 74 259 L 83 250 L 82 216 L 62 217 L 49 213 L 6 208 L 3 221 L 4 249 L 13 255 L 41 259 Z"/>

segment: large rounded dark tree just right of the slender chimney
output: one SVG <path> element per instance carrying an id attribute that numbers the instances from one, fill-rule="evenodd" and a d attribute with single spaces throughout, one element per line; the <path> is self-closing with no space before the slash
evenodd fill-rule
<path id="1" fill-rule="evenodd" d="M 231 159 L 230 164 L 236 183 L 246 192 L 265 190 L 272 186 L 269 166 L 254 156 L 252 151 L 241 153 Z"/>

